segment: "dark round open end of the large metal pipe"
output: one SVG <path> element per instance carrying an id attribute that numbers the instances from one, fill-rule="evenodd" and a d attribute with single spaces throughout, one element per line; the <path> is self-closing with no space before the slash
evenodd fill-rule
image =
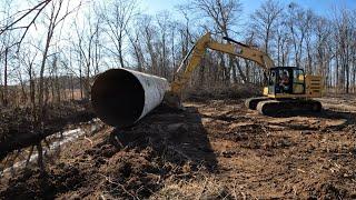
<path id="1" fill-rule="evenodd" d="M 123 128 L 140 118 L 145 107 L 145 90 L 129 71 L 110 69 L 100 73 L 91 87 L 91 103 L 102 121 Z"/>

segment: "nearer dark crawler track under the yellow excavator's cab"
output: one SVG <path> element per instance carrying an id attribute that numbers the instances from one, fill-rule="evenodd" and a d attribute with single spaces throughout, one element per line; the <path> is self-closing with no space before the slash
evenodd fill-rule
<path id="1" fill-rule="evenodd" d="M 256 110 L 265 116 L 285 117 L 320 112 L 322 108 L 322 103 L 316 100 L 286 99 L 260 101 Z"/>

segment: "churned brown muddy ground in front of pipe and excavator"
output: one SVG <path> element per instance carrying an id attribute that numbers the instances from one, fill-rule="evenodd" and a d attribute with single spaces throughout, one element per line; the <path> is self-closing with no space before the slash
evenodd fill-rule
<path id="1" fill-rule="evenodd" d="M 204 99 L 204 98 L 202 98 Z M 139 124 L 103 126 L 47 163 L 1 178 L 2 199 L 355 199 L 355 97 L 319 114 L 271 118 L 240 100 L 156 109 Z"/>

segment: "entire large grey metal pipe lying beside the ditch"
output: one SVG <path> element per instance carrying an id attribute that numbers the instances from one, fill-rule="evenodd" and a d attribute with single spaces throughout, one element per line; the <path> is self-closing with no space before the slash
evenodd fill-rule
<path id="1" fill-rule="evenodd" d="M 100 73 L 91 87 L 95 112 L 106 123 L 132 126 L 161 103 L 169 83 L 166 79 L 128 69 Z"/>

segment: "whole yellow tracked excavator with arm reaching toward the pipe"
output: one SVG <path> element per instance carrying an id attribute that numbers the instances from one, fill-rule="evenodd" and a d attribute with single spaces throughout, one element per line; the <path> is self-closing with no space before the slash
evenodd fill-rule
<path id="1" fill-rule="evenodd" d="M 320 76 L 305 74 L 303 69 L 296 67 L 275 67 L 274 61 L 264 51 L 230 38 L 225 37 L 224 39 L 228 42 L 218 42 L 208 32 L 197 40 L 178 68 L 170 91 L 165 96 L 165 101 L 168 104 L 172 107 L 181 106 L 184 89 L 188 84 L 194 70 L 199 67 L 206 50 L 211 49 L 255 61 L 263 68 L 267 84 L 264 87 L 264 97 L 247 99 L 245 104 L 248 109 L 258 110 L 259 113 L 267 116 L 304 113 L 305 111 L 318 112 L 322 110 L 322 103 L 312 99 L 322 97 Z M 181 69 L 187 60 L 188 64 L 182 71 Z"/>

